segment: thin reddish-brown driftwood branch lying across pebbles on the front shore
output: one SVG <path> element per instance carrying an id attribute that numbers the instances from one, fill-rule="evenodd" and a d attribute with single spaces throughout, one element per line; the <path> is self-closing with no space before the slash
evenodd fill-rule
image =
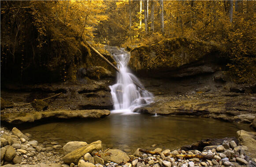
<path id="1" fill-rule="evenodd" d="M 147 154 L 152 154 L 152 155 L 160 155 L 159 152 L 155 152 L 155 151 L 149 151 L 146 149 L 139 149 L 140 152 L 142 153 L 147 153 Z M 173 155 L 173 154 L 164 154 L 164 156 L 172 156 L 174 158 L 185 158 L 185 159 L 191 159 L 191 158 L 199 158 L 199 159 L 214 159 L 213 156 L 211 155 L 203 155 L 203 154 L 193 154 L 193 155 L 186 155 L 186 154 L 178 154 L 178 155 Z"/>

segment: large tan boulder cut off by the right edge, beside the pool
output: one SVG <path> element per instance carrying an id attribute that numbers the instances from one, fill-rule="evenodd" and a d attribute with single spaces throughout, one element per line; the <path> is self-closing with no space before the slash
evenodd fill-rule
<path id="1" fill-rule="evenodd" d="M 254 158 L 256 158 L 256 132 L 237 131 L 237 139 L 241 145 L 247 146 L 248 150 L 245 152 Z"/>

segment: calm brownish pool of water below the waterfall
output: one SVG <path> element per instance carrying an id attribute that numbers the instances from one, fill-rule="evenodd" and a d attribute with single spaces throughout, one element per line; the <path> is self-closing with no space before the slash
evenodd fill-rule
<path id="1" fill-rule="evenodd" d="M 104 148 L 175 149 L 202 139 L 236 136 L 237 130 L 248 130 L 249 124 L 236 124 L 200 117 L 150 116 L 146 114 L 111 114 L 100 119 L 61 121 L 20 127 L 40 143 L 69 141 L 87 143 L 101 140 Z"/>

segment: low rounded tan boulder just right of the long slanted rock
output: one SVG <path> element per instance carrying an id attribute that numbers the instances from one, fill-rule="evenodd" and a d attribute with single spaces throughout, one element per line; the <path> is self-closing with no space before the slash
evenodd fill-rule
<path id="1" fill-rule="evenodd" d="M 127 163 L 127 161 L 130 160 L 127 154 L 119 149 L 109 149 L 108 151 L 101 153 L 100 156 L 104 161 L 109 160 L 115 163 Z"/>

